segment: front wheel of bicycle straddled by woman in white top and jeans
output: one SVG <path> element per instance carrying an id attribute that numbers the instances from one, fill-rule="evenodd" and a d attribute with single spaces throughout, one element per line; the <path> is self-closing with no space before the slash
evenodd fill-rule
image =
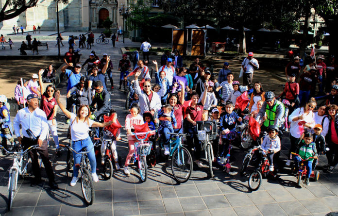
<path id="1" fill-rule="evenodd" d="M 93 204 L 95 198 L 94 183 L 87 169 L 82 169 L 81 171 L 81 189 L 85 202 L 88 205 Z"/>

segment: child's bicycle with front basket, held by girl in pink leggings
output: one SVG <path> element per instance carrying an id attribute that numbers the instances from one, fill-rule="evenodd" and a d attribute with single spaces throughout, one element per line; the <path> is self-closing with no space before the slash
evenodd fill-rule
<path id="1" fill-rule="evenodd" d="M 132 133 L 135 135 L 135 138 L 139 142 L 135 142 L 135 152 L 134 152 L 134 164 L 137 160 L 138 172 L 140 173 L 140 177 L 142 182 L 147 181 L 148 177 L 148 166 L 146 156 L 150 154 L 152 150 L 152 142 L 149 141 L 148 134 L 154 133 L 155 131 L 149 132 L 140 132 L 140 133 Z"/>

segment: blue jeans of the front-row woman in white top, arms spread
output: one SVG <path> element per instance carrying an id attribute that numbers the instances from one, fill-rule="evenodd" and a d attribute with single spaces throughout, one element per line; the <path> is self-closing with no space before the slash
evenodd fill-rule
<path id="1" fill-rule="evenodd" d="M 87 153 L 87 156 L 89 159 L 92 173 L 96 173 L 96 159 L 95 159 L 95 153 L 94 153 L 94 148 L 93 148 L 93 142 L 91 141 L 90 137 L 88 136 L 84 140 L 72 141 L 72 146 L 73 146 L 73 149 L 77 152 L 79 152 L 84 147 L 86 148 L 86 151 L 91 150 L 89 153 Z M 81 163 L 82 154 L 77 154 L 73 152 L 73 157 L 74 157 L 73 177 L 78 177 L 79 167 L 75 165 Z"/>

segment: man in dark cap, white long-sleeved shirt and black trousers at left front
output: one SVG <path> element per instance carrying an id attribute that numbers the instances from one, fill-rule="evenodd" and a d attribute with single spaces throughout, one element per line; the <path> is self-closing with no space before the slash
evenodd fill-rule
<path id="1" fill-rule="evenodd" d="M 34 173 L 32 186 L 42 182 L 40 166 L 37 158 L 38 152 L 45 167 L 50 187 L 52 189 L 58 189 L 58 186 L 55 183 L 51 162 L 49 160 L 47 142 L 43 142 L 43 140 L 47 137 L 49 129 L 47 116 L 45 112 L 38 108 L 38 97 L 36 95 L 28 95 L 27 104 L 28 106 L 19 110 L 14 118 L 14 131 L 17 136 L 17 141 L 24 147 L 24 150 L 33 145 L 39 145 L 40 147 L 39 149 L 29 151 L 29 155 L 32 158 L 32 168 Z M 20 130 L 20 125 L 22 130 Z M 32 134 L 27 133 L 28 129 Z M 20 131 L 22 132 L 23 137 L 21 137 Z"/>

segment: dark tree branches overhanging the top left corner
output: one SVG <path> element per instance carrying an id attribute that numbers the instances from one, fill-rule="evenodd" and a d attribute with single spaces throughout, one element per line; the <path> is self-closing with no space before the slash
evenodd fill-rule
<path id="1" fill-rule="evenodd" d="M 57 2 L 67 3 L 68 0 L 56 0 Z M 28 8 L 34 7 L 38 0 L 6 0 L 0 11 L 0 22 L 19 16 Z"/>

